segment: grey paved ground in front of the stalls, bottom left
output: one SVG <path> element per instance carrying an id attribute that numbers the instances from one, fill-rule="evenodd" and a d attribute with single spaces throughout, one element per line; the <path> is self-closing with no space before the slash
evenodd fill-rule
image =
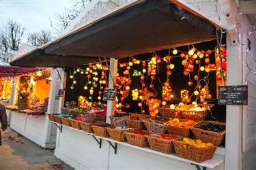
<path id="1" fill-rule="evenodd" d="M 10 127 L 3 136 L 3 146 L 0 146 L 0 169 L 71 170 L 54 156 L 53 150 L 40 148 Z"/>

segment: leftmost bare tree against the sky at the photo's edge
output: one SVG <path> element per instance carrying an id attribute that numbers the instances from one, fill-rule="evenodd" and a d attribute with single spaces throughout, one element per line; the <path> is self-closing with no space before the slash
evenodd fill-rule
<path id="1" fill-rule="evenodd" d="M 25 27 L 14 20 L 9 20 L 5 31 L 1 32 L 1 54 L 8 50 L 17 51 L 24 33 Z"/>

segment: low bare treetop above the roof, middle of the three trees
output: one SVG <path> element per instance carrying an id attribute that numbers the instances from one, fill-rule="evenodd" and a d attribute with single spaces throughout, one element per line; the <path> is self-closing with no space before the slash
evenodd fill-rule
<path id="1" fill-rule="evenodd" d="M 30 33 L 27 36 L 27 43 L 32 46 L 42 46 L 53 38 L 51 31 L 42 30 L 38 33 Z"/>

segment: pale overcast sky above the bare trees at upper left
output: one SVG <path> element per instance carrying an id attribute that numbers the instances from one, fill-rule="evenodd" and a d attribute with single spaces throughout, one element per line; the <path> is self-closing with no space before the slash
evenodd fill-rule
<path id="1" fill-rule="evenodd" d="M 27 28 L 27 33 L 51 29 L 48 18 L 68 7 L 68 0 L 0 0 L 1 30 L 8 20 L 16 20 Z"/>

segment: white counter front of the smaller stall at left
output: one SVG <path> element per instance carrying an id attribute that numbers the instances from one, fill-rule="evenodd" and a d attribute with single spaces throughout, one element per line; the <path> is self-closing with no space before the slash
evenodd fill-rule
<path id="1" fill-rule="evenodd" d="M 42 148 L 55 148 L 57 131 L 47 116 L 29 116 L 12 111 L 10 127 Z"/>

